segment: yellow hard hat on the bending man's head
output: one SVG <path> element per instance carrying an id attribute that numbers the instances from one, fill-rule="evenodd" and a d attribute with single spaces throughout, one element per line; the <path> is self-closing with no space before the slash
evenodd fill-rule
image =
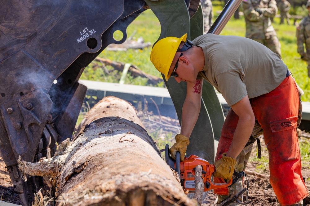
<path id="1" fill-rule="evenodd" d="M 151 52 L 151 61 L 155 68 L 165 75 L 166 81 L 170 78 L 168 75 L 172 60 L 175 53 L 182 41 L 186 42 L 187 34 L 184 34 L 181 38 L 166 37 L 163 38 L 153 46 Z"/>

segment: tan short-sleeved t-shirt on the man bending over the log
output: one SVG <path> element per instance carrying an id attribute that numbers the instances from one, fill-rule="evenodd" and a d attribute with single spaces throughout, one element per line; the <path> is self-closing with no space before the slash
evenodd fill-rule
<path id="1" fill-rule="evenodd" d="M 254 98 L 267 94 L 286 78 L 287 66 L 281 58 L 254 40 L 205 34 L 193 43 L 205 55 L 205 66 L 197 79 L 210 82 L 229 106 L 246 95 Z"/>

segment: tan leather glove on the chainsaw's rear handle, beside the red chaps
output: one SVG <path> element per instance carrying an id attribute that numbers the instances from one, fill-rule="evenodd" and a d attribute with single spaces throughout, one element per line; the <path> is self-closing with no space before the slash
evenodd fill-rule
<path id="1" fill-rule="evenodd" d="M 213 176 L 224 179 L 232 179 L 236 162 L 236 159 L 226 157 L 226 153 L 224 153 L 221 159 L 214 162 L 215 172 L 213 173 Z"/>

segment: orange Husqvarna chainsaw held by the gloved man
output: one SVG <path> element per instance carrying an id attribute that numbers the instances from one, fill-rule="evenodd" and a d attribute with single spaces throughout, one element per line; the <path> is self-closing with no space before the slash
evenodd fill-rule
<path id="1" fill-rule="evenodd" d="M 185 156 L 184 161 L 180 162 L 180 153 L 176 153 L 175 160 L 170 156 L 169 145 L 166 144 L 165 148 L 166 163 L 179 174 L 180 183 L 184 192 L 195 192 L 195 168 L 197 165 L 202 166 L 202 176 L 204 184 L 204 192 L 211 189 L 229 186 L 232 183 L 232 179 L 228 183 L 213 183 L 211 182 L 212 173 L 215 170 L 214 165 L 211 165 L 208 161 L 191 155 L 189 158 Z"/>

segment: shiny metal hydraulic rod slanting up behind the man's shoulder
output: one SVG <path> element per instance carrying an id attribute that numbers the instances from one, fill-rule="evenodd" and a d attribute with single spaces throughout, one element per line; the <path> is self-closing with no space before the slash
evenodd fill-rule
<path id="1" fill-rule="evenodd" d="M 233 13 L 235 13 L 238 6 L 241 4 L 241 1 L 242 0 L 229 0 L 207 33 L 220 34 L 229 19 L 232 17 Z"/>

